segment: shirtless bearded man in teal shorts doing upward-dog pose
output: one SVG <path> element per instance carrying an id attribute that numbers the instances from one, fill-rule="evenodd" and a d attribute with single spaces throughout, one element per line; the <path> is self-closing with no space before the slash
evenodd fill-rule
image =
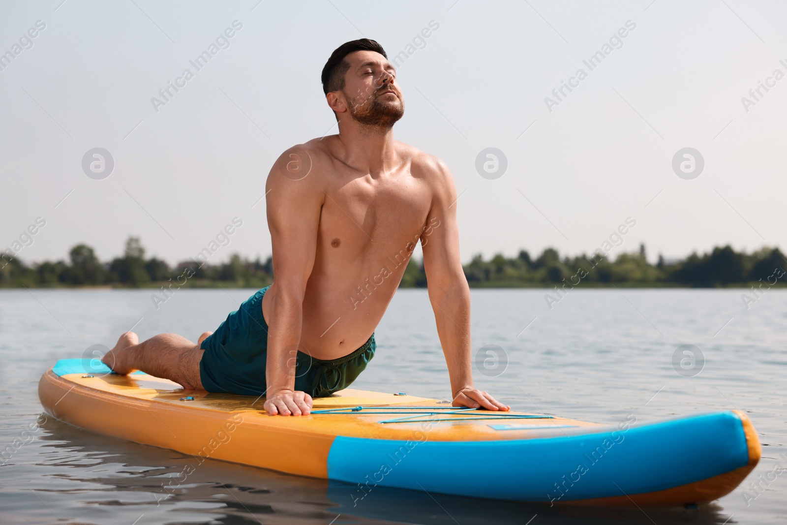
<path id="1" fill-rule="evenodd" d="M 272 416 L 307 415 L 312 396 L 342 390 L 374 355 L 375 327 L 420 241 L 453 405 L 508 410 L 473 387 L 456 188 L 443 161 L 393 140 L 405 106 L 385 50 L 345 43 L 322 81 L 338 135 L 286 150 L 265 185 L 274 283 L 197 345 L 127 332 L 102 360 L 184 388 L 266 394 Z"/>

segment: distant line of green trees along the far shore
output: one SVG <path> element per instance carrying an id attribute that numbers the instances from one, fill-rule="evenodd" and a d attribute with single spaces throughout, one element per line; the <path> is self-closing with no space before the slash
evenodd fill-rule
<path id="1" fill-rule="evenodd" d="M 560 258 L 551 248 L 537 258 L 527 251 L 517 257 L 496 255 L 485 261 L 480 255 L 464 265 L 471 287 L 575 287 L 620 285 L 626 287 L 727 287 L 752 283 L 773 286 L 785 281 L 787 260 L 778 249 L 763 248 L 739 253 L 730 246 L 711 253 L 693 253 L 680 261 L 648 263 L 645 246 L 637 253 Z M 24 264 L 17 257 L 0 253 L 0 287 L 266 287 L 273 281 L 271 257 L 249 261 L 238 254 L 223 264 L 184 261 L 175 268 L 165 261 L 146 259 L 139 238 L 130 237 L 123 257 L 102 262 L 87 245 L 74 246 L 68 261 Z M 425 287 L 423 263 L 411 260 L 401 287 Z"/>

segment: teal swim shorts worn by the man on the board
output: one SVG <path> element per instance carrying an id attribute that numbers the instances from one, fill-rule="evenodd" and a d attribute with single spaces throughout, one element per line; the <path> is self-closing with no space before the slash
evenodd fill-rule
<path id="1" fill-rule="evenodd" d="M 200 348 L 202 387 L 209 392 L 260 396 L 265 393 L 265 364 L 268 357 L 268 324 L 262 315 L 264 287 L 227 316 Z M 353 383 L 375 355 L 375 334 L 364 346 L 334 360 L 314 359 L 298 352 L 295 390 L 312 397 L 330 396 Z"/>

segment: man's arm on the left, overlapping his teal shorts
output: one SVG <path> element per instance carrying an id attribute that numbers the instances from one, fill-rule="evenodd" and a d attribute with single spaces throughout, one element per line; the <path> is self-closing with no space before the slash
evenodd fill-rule
<path id="1" fill-rule="evenodd" d="M 312 397 L 295 391 L 303 297 L 314 266 L 324 200 L 316 176 L 304 173 L 312 169 L 312 157 L 302 146 L 286 150 L 265 183 L 275 276 L 265 292 L 270 308 L 264 408 L 272 416 L 308 415 L 312 409 Z"/>

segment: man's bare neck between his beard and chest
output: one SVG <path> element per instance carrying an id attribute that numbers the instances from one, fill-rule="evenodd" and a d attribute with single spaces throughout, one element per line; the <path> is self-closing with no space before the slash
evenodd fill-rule
<path id="1" fill-rule="evenodd" d="M 356 120 L 339 122 L 342 161 L 361 172 L 376 176 L 397 164 L 393 128 L 376 128 Z"/>

